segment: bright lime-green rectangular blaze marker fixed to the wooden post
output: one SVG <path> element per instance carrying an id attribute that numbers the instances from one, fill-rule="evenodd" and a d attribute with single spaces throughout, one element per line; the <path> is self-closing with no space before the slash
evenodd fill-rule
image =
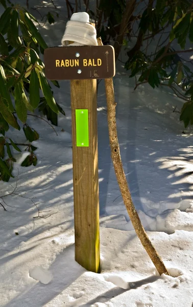
<path id="1" fill-rule="evenodd" d="M 76 109 L 77 147 L 88 147 L 88 109 Z"/>

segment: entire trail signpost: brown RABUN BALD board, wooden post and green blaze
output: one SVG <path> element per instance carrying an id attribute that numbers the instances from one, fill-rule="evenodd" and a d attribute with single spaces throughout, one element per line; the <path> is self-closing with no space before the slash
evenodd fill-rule
<path id="1" fill-rule="evenodd" d="M 96 79 L 115 75 L 112 46 L 53 47 L 44 51 L 45 76 L 71 80 L 75 259 L 100 272 Z"/>

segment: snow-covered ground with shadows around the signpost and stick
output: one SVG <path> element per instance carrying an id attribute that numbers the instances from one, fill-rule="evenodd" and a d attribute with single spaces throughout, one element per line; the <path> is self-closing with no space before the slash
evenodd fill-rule
<path id="1" fill-rule="evenodd" d="M 50 46 L 60 45 L 65 24 L 59 19 L 41 29 Z M 134 80 L 118 65 L 114 88 L 121 155 L 142 224 L 172 275 L 160 277 L 136 237 L 115 179 L 100 83 L 102 273 L 95 274 L 74 259 L 69 82 L 60 84 L 55 97 L 66 117 L 59 118 L 58 136 L 45 122 L 30 118 L 29 124 L 40 134 L 34 142 L 38 164 L 21 167 L 25 153 L 15 152 L 16 177 L 1 182 L 7 211 L 0 206 L 0 306 L 193 306 L 192 135 L 182 134 L 179 113 L 173 112 L 182 102 L 149 85 L 133 92 Z M 15 142 L 25 142 L 22 132 L 9 134 Z M 20 196 L 8 195 L 16 183 Z M 40 216 L 52 215 L 37 217 L 34 203 Z"/>

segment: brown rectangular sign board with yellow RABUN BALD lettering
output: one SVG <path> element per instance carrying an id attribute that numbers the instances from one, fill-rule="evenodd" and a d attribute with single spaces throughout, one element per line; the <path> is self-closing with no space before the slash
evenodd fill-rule
<path id="1" fill-rule="evenodd" d="M 52 47 L 44 51 L 49 80 L 107 79 L 115 75 L 112 46 Z"/>

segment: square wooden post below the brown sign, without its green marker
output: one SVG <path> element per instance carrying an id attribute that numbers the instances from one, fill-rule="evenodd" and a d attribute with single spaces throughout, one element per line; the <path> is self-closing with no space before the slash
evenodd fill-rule
<path id="1" fill-rule="evenodd" d="M 75 214 L 75 259 L 100 272 L 96 79 L 72 80 L 71 114 Z M 76 109 L 88 109 L 88 147 L 77 146 Z"/>

